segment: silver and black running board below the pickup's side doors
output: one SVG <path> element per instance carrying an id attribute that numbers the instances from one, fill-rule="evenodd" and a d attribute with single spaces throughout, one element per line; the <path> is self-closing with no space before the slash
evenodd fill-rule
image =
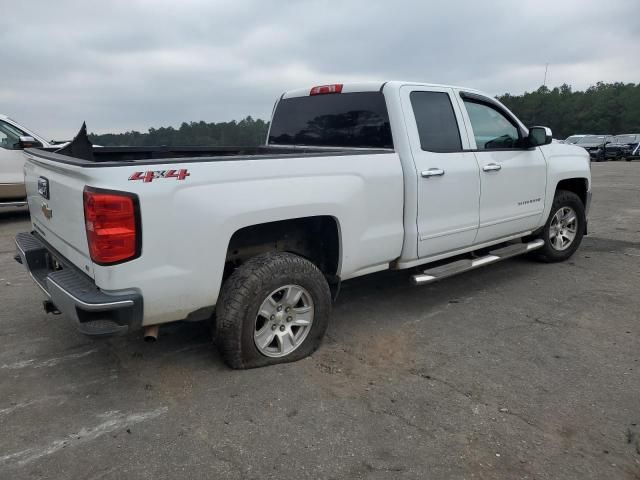
<path id="1" fill-rule="evenodd" d="M 437 282 L 443 278 L 457 275 L 458 273 L 468 272 L 491 263 L 496 263 L 507 258 L 516 257 L 524 253 L 537 250 L 544 246 L 544 240 L 538 239 L 529 243 L 514 243 L 506 247 L 499 248 L 489 252 L 484 257 L 474 259 L 463 259 L 455 262 L 441 265 L 440 267 L 431 268 L 425 270 L 423 273 L 419 273 L 411 277 L 411 281 L 415 285 L 424 285 L 425 283 Z"/>

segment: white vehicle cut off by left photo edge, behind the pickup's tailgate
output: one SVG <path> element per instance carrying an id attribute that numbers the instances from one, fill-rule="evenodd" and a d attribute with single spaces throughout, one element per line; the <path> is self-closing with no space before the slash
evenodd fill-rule
<path id="1" fill-rule="evenodd" d="M 15 120 L 0 115 L 0 207 L 26 205 L 22 150 L 52 146 Z"/>

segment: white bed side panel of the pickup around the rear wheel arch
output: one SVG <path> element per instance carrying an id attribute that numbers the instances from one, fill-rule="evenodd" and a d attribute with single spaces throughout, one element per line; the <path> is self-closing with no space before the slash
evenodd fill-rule
<path id="1" fill-rule="evenodd" d="M 185 180 L 129 181 L 135 172 L 188 169 Z M 214 305 L 231 236 L 251 225 L 314 215 L 340 229 L 343 279 L 386 268 L 403 241 L 403 180 L 396 153 L 194 161 L 86 168 L 89 185 L 140 199 L 142 255 L 93 266 L 105 290 L 138 288 L 144 324 Z"/>

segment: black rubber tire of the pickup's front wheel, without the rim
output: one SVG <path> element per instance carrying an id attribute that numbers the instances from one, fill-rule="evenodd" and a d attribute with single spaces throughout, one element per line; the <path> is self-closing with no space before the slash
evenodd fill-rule
<path id="1" fill-rule="evenodd" d="M 556 250 L 551 243 L 550 227 L 554 215 L 563 207 L 570 207 L 574 210 L 578 225 L 573 243 L 566 250 Z M 582 242 L 582 237 L 584 236 L 585 225 L 586 215 L 584 212 L 584 204 L 582 203 L 582 200 L 580 200 L 580 197 L 575 193 L 566 190 L 556 191 L 555 197 L 553 198 L 553 204 L 551 205 L 549 218 L 547 219 L 547 223 L 544 225 L 542 233 L 538 237 L 544 240 L 544 246 L 534 252 L 535 256 L 539 260 L 547 263 L 567 260 L 580 246 L 580 242 Z"/>

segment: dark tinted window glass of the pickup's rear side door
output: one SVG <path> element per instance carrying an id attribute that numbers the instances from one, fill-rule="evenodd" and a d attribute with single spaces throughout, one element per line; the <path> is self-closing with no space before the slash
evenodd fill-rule
<path id="1" fill-rule="evenodd" d="M 411 92 L 420 146 L 429 152 L 459 152 L 462 150 L 460 129 L 448 93 Z"/>

